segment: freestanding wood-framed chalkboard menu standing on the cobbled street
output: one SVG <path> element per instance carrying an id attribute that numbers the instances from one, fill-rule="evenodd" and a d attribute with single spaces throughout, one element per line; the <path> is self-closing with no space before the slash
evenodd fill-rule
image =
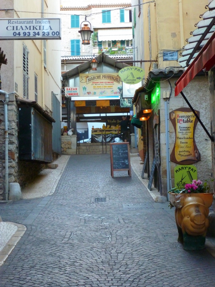
<path id="1" fill-rule="evenodd" d="M 111 176 L 114 171 L 128 170 L 131 176 L 129 142 L 110 143 Z"/>

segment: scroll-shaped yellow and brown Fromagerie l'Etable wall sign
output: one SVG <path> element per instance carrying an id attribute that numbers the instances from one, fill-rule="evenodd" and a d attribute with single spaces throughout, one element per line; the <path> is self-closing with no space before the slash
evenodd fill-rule
<path id="1" fill-rule="evenodd" d="M 199 116 L 199 111 L 196 113 Z M 196 163 L 201 159 L 194 139 L 196 116 L 189 108 L 171 111 L 169 115 L 176 133 L 170 160 L 181 165 Z"/>

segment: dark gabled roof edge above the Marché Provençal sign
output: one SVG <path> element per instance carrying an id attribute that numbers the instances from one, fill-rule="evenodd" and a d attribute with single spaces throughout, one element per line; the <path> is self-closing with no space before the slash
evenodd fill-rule
<path id="1" fill-rule="evenodd" d="M 105 63 L 107 65 L 110 65 L 110 66 L 113 66 L 113 67 L 116 67 L 118 69 L 122 69 L 124 67 L 127 67 L 129 65 L 123 63 L 123 62 L 120 62 L 118 60 L 115 60 L 107 55 L 105 55 L 104 53 L 100 54 L 99 56 L 96 57 L 96 60 L 98 63 Z M 76 76 L 80 73 L 83 73 L 85 70 L 91 68 L 91 59 L 79 66 L 77 66 L 76 68 L 62 74 L 62 78 L 67 78 L 67 77 L 73 77 L 73 76 Z"/>

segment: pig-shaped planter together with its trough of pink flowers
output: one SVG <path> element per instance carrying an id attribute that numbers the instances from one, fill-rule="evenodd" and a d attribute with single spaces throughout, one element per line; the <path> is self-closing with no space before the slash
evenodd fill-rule
<path id="1" fill-rule="evenodd" d="M 172 188 L 169 191 L 170 207 L 175 207 L 175 219 L 178 228 L 178 241 L 185 250 L 204 248 L 207 228 L 209 227 L 209 207 L 213 203 L 211 183 L 213 180 L 193 180 L 184 188 Z"/>

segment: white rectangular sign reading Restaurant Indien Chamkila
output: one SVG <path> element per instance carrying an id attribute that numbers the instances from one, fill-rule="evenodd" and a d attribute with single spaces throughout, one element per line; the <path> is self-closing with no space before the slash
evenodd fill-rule
<path id="1" fill-rule="evenodd" d="M 0 40 L 61 40 L 60 18 L 0 19 Z"/>

